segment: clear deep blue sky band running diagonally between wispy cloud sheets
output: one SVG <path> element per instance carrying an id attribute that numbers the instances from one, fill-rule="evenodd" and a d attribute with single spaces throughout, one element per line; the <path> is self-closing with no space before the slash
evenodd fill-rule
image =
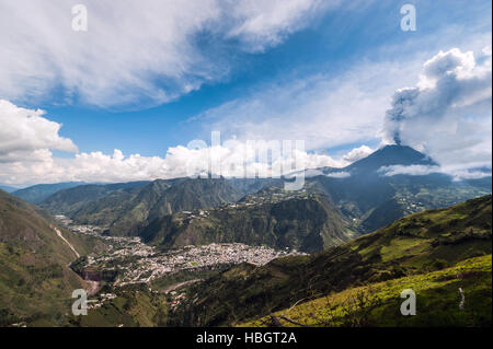
<path id="1" fill-rule="evenodd" d="M 232 63 L 231 74 L 222 81 L 207 83 L 198 91 L 157 107 L 140 109 L 136 106 L 136 110 L 125 112 L 88 105 L 55 107 L 49 103 L 41 107 L 48 112 L 51 119 L 64 124 L 60 133 L 72 139 L 81 151 L 112 152 L 117 148 L 124 153 L 163 154 L 169 147 L 185 144 L 204 136 L 200 130 L 184 125 L 186 119 L 242 97 L 264 82 L 288 84 L 289 78 L 286 75 L 320 72 L 336 75 L 341 70 L 351 69 L 352 61 L 360 57 L 378 60 L 380 47 L 405 46 L 409 43 L 415 45 L 422 37 L 439 33 L 451 25 L 481 26 L 478 19 L 484 21 L 483 30 L 491 27 L 489 16 L 485 15 L 491 12 L 489 1 L 416 2 L 380 1 L 364 11 L 330 13 L 272 49 L 234 55 L 237 61 Z M 400 30 L 401 3 L 416 3 L 416 32 Z M 404 48 L 392 59 L 399 60 L 408 55 Z M 39 106 L 27 104 L 26 107 Z M 207 129 L 207 126 L 204 127 Z"/>

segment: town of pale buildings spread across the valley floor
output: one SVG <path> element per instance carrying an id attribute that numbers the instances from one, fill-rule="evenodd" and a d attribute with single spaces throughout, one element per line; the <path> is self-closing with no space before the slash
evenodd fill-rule
<path id="1" fill-rule="evenodd" d="M 67 224 L 65 217 L 57 218 Z M 283 256 L 302 255 L 296 251 L 276 251 L 241 243 L 213 243 L 161 251 L 142 243 L 139 237 L 102 235 L 98 226 L 68 224 L 66 228 L 106 244 L 104 253 L 78 258 L 71 268 L 87 280 L 111 281 L 114 288 L 150 284 L 156 279 L 180 271 L 220 270 L 242 263 L 262 266 Z"/>

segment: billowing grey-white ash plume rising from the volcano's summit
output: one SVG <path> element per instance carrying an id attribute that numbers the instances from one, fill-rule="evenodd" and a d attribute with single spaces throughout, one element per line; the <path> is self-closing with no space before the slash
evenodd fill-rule
<path id="1" fill-rule="evenodd" d="M 385 141 L 429 149 L 470 138 L 467 118 L 491 116 L 491 49 L 483 49 L 478 60 L 458 48 L 439 51 L 424 63 L 416 86 L 394 93 Z"/>

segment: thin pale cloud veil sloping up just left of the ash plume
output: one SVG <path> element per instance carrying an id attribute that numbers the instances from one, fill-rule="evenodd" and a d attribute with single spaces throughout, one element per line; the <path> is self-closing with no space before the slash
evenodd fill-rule
<path id="1" fill-rule="evenodd" d="M 348 13 L 344 21 L 354 19 L 357 11 Z M 204 123 L 205 132 L 217 129 L 240 139 L 305 139 L 309 150 L 388 139 L 381 130 L 391 96 L 399 88 L 419 83 L 424 61 L 443 47 L 459 45 L 478 51 L 489 42 L 491 33 L 483 28 L 439 25 L 437 31 L 421 33 L 419 39 L 375 46 L 335 69 L 323 67 L 316 74 L 305 74 L 302 69 L 285 72 L 282 79 L 263 81 L 191 121 Z"/>

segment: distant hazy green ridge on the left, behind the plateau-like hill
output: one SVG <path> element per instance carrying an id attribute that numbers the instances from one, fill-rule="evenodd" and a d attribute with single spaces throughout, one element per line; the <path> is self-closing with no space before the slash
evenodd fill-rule
<path id="1" fill-rule="evenodd" d="M 113 235 L 135 235 L 148 220 L 233 202 L 240 197 L 241 193 L 222 178 L 179 178 L 81 186 L 57 193 L 42 207 L 81 224 L 103 226 Z"/>

